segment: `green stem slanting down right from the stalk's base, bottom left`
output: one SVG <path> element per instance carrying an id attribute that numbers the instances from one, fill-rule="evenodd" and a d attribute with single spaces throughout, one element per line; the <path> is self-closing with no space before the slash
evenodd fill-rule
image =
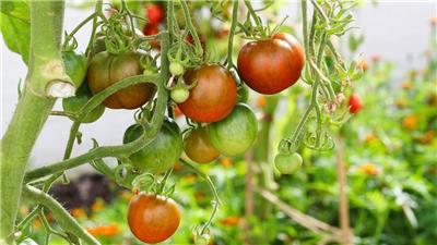
<path id="1" fill-rule="evenodd" d="M 82 229 L 81 225 L 74 220 L 74 218 L 71 217 L 70 213 L 66 209 L 63 209 L 63 207 L 48 194 L 35 187 L 25 185 L 23 187 L 23 198 L 31 203 L 36 203 L 38 205 L 43 205 L 44 207 L 46 207 L 48 210 L 50 210 L 54 218 L 58 221 L 59 225 L 64 231 L 74 234 L 75 236 L 83 240 L 86 244 L 91 245 L 101 244 L 90 233 L 87 233 L 84 229 Z"/>

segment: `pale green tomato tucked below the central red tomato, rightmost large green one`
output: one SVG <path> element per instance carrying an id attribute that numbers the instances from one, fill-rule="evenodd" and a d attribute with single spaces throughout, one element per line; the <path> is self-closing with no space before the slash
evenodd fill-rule
<path id="1" fill-rule="evenodd" d="M 246 152 L 258 133 L 258 121 L 249 106 L 237 103 L 224 120 L 208 125 L 211 144 L 224 156 Z"/>

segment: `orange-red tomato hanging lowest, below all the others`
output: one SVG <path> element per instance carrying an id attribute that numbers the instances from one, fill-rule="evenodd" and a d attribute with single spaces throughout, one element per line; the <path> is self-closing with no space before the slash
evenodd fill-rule
<path id="1" fill-rule="evenodd" d="M 137 238 L 155 244 L 176 232 L 180 223 L 180 211 L 169 197 L 141 194 L 130 200 L 128 223 Z"/>

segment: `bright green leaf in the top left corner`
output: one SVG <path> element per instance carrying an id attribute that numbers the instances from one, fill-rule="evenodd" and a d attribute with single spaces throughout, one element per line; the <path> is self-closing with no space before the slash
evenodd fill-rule
<path id="1" fill-rule="evenodd" d="M 3 1 L 0 5 L 0 27 L 8 48 L 20 53 L 27 64 L 31 44 L 29 7 L 26 1 Z"/>

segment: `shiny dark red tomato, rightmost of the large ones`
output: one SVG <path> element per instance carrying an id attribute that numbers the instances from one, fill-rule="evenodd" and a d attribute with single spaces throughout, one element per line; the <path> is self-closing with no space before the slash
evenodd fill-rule
<path id="1" fill-rule="evenodd" d="M 297 40 L 280 33 L 270 39 L 246 44 L 238 54 L 238 73 L 253 90 L 272 95 L 297 82 L 304 62 Z"/>

